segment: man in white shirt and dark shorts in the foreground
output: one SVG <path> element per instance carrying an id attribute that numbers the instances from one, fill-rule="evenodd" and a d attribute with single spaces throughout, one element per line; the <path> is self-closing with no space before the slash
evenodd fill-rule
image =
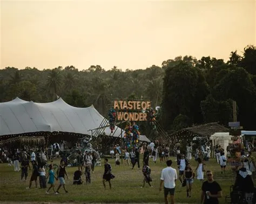
<path id="1" fill-rule="evenodd" d="M 166 164 L 167 164 L 167 167 L 164 168 L 161 173 L 159 191 L 161 191 L 163 183 L 164 183 L 165 204 L 168 204 L 169 193 L 170 193 L 170 197 L 171 197 L 171 204 L 174 204 L 175 182 L 178 179 L 177 171 L 175 168 L 171 167 L 172 160 L 167 160 Z"/>

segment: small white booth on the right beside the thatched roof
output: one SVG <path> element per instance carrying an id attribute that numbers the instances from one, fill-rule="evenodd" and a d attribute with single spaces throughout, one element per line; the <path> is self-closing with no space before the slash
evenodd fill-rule
<path id="1" fill-rule="evenodd" d="M 215 132 L 211 135 L 210 139 L 212 140 L 213 146 L 220 145 L 224 149 L 225 155 L 227 155 L 227 146 L 232 143 L 232 136 L 229 132 Z"/>

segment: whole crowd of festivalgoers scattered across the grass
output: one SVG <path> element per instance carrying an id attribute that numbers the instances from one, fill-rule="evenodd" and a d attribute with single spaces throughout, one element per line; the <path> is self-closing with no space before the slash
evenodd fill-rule
<path id="1" fill-rule="evenodd" d="M 250 145 L 250 143 L 248 143 Z M 50 193 L 50 190 L 53 190 L 53 193 L 58 194 L 61 187 L 63 187 L 65 193 L 68 193 L 68 189 L 65 186 L 65 178 L 69 179 L 68 172 L 66 171 L 67 160 L 62 158 L 60 165 L 57 168 L 57 171 L 53 169 L 53 165 L 49 165 L 48 171 L 44 168 L 44 163 L 39 158 L 46 158 L 46 154 L 42 149 L 35 148 L 28 150 L 29 147 L 24 147 L 23 150 L 15 149 L 14 153 L 11 156 L 8 155 L 9 165 L 14 165 L 15 171 L 21 171 L 21 180 L 26 181 L 28 178 L 28 169 L 32 168 L 32 173 L 30 176 L 29 186 L 27 189 L 30 189 L 33 182 L 35 181 L 35 187 L 37 188 L 37 181 L 39 178 L 39 187 L 46 189 L 46 183 L 50 184 L 50 187 L 45 191 L 46 194 Z M 58 144 L 52 145 L 52 151 L 60 150 Z M 254 192 L 254 173 L 255 173 L 255 163 L 254 157 L 252 156 L 252 151 L 254 147 L 251 145 L 248 147 L 248 154 L 245 156 L 245 151 L 241 151 L 241 168 L 237 169 L 237 179 L 234 184 L 234 189 L 236 191 L 242 191 L 244 193 Z M 226 165 L 228 162 L 228 154 L 225 156 L 224 149 L 218 145 L 215 147 L 214 157 L 216 162 L 220 165 L 221 174 L 225 174 Z M 35 153 L 36 152 L 36 153 Z M 214 181 L 213 172 L 208 170 L 206 171 L 206 163 L 209 158 L 211 158 L 211 148 L 207 144 L 201 147 L 198 147 L 196 150 L 193 150 L 191 144 L 187 144 L 186 151 L 180 152 L 179 146 L 176 148 L 177 152 L 177 166 L 173 168 L 173 161 L 169 159 L 170 157 L 170 147 L 168 145 L 160 145 L 157 141 L 151 142 L 150 144 L 143 145 L 141 148 L 134 148 L 130 151 L 123 151 L 121 147 L 117 144 L 113 147 L 113 152 L 111 150 L 112 157 L 115 158 L 115 166 L 120 165 L 120 158 L 124 156 L 124 165 L 129 166 L 133 169 L 136 164 L 138 169 L 140 169 L 140 154 L 143 154 L 143 166 L 142 166 L 142 175 L 143 175 L 143 185 L 145 187 L 147 183 L 150 187 L 153 187 L 151 182 L 151 168 L 149 166 L 149 159 L 152 158 L 153 163 L 157 163 L 158 157 L 160 163 L 166 163 L 167 167 L 163 169 L 160 177 L 160 187 L 161 191 L 164 186 L 164 198 L 165 202 L 168 203 L 168 196 L 170 195 L 171 203 L 174 203 L 174 192 L 176 181 L 179 181 L 180 186 L 186 186 L 186 196 L 191 198 L 192 196 L 192 187 L 194 179 L 201 181 L 201 194 L 200 202 L 201 203 L 218 203 L 218 198 L 222 196 L 222 190 L 220 185 Z M 229 152 L 229 151 L 227 151 Z M 2 158 L 3 154 L 6 151 L 1 150 Z M 197 167 L 193 169 L 190 160 L 194 156 L 194 159 L 197 161 Z M 82 151 L 78 152 L 76 158 L 78 166 L 78 174 L 82 175 L 84 172 L 86 184 L 91 184 L 91 172 L 94 173 L 96 156 L 95 152 Z M 21 166 L 21 167 L 20 167 Z M 178 173 L 177 173 L 178 171 Z M 77 171 L 76 171 L 77 172 Z M 204 176 L 206 174 L 206 181 Z M 75 175 L 74 175 L 75 178 Z M 108 159 L 104 159 L 104 173 L 103 173 L 103 186 L 106 188 L 106 182 L 109 183 L 111 189 L 111 179 L 114 179 L 112 174 L 112 166 L 108 162 Z M 59 182 L 57 189 L 55 188 L 55 181 Z M 246 185 L 245 185 L 246 181 Z M 74 181 L 75 183 L 75 181 Z M 80 182 L 82 184 L 82 182 Z"/>

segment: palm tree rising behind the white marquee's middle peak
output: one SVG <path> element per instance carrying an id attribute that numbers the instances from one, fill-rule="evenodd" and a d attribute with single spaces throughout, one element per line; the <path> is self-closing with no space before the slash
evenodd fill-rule
<path id="1" fill-rule="evenodd" d="M 59 69 L 52 69 L 48 74 L 47 83 L 50 93 L 52 93 L 52 99 L 55 100 L 57 96 L 57 90 L 62 84 L 62 75 L 60 74 Z"/>

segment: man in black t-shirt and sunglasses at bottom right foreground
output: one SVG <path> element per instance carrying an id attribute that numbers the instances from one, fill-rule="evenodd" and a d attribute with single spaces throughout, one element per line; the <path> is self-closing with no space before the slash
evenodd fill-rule
<path id="1" fill-rule="evenodd" d="M 201 204 L 219 204 L 218 198 L 223 196 L 220 185 L 214 181 L 212 171 L 206 171 L 207 181 L 201 187 Z"/>

